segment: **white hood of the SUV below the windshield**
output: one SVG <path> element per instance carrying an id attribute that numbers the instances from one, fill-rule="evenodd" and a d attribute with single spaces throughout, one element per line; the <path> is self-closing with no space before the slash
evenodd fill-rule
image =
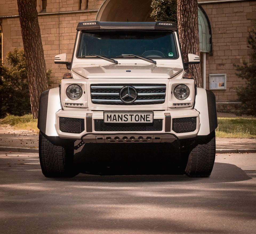
<path id="1" fill-rule="evenodd" d="M 167 78 L 170 79 L 180 72 L 182 68 L 171 68 L 158 65 L 91 65 L 75 67 L 72 71 L 85 78 Z"/>

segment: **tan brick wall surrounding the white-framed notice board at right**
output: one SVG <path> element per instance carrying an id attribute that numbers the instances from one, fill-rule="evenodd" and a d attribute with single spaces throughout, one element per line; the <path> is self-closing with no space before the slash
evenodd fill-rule
<path id="1" fill-rule="evenodd" d="M 200 1 L 198 1 L 200 3 Z M 250 61 L 247 48 L 248 31 L 256 25 L 256 2 L 227 2 L 201 4 L 212 31 L 213 53 L 206 56 L 206 88 L 209 89 L 209 74 L 227 74 L 227 89 L 213 90 L 218 101 L 237 100 L 236 88 L 246 82 L 235 75 L 233 64 Z"/>

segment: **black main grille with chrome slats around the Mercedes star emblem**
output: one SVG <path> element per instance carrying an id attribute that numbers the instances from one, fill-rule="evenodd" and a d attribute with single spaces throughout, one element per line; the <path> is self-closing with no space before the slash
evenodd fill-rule
<path id="1" fill-rule="evenodd" d="M 124 86 L 133 86 L 137 91 L 134 102 L 125 103 L 120 99 Z M 165 102 L 165 84 L 92 84 L 91 101 L 103 105 L 151 105 Z"/>

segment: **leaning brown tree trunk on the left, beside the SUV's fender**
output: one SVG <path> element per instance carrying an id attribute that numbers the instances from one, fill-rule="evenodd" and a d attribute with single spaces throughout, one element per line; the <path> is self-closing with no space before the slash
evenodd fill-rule
<path id="1" fill-rule="evenodd" d="M 48 89 L 43 45 L 34 0 L 17 0 L 27 65 L 31 111 L 38 118 L 39 97 Z"/>

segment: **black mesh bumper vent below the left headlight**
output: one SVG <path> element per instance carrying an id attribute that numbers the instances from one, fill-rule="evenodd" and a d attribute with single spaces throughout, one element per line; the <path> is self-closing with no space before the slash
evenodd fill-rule
<path id="1" fill-rule="evenodd" d="M 68 133 L 81 133 L 85 130 L 85 120 L 59 117 L 59 130 Z"/>

